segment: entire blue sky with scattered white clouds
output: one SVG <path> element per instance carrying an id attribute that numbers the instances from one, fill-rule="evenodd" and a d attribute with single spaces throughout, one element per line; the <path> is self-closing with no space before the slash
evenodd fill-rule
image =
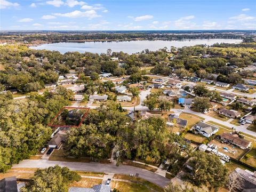
<path id="1" fill-rule="evenodd" d="M 256 1 L 0 0 L 1 30 L 256 30 Z"/>

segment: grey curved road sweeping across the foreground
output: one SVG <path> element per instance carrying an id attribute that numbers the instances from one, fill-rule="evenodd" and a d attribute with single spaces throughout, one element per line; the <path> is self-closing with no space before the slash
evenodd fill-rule
<path id="1" fill-rule="evenodd" d="M 80 162 L 61 162 L 61 161 L 48 161 L 48 160 L 23 160 L 19 164 L 13 165 L 13 168 L 46 168 L 49 166 L 60 165 L 67 166 L 70 170 L 75 171 L 94 171 L 94 172 L 107 172 L 107 173 L 118 173 L 118 174 L 139 174 L 139 177 L 153 182 L 161 187 L 165 187 L 170 179 L 162 177 L 154 172 L 141 169 L 139 167 L 133 167 L 129 165 L 114 164 L 101 164 L 97 162 L 80 163 Z"/>

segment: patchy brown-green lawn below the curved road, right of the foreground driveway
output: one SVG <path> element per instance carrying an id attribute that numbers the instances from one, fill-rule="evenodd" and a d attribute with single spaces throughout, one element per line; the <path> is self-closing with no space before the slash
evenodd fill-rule
<path id="1" fill-rule="evenodd" d="M 136 182 L 140 182 L 142 184 L 142 186 L 146 187 L 147 190 L 145 191 L 163 191 L 163 188 L 151 183 L 145 179 L 141 179 L 141 178 L 131 178 L 129 175 L 124 175 L 124 174 L 115 174 L 114 179 L 124 179 L 124 180 L 132 180 L 132 181 L 136 181 Z M 141 185 L 139 183 L 130 183 L 132 186 L 134 186 L 134 184 L 137 185 Z M 151 190 L 153 189 L 153 190 Z M 120 190 L 120 189 L 119 189 Z M 126 191 L 130 191 L 130 190 L 126 190 Z M 136 191 L 140 191 L 140 190 L 136 190 Z"/>

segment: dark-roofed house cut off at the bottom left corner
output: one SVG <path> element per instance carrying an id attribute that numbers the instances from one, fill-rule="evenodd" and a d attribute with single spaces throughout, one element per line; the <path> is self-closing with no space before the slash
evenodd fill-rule
<path id="1" fill-rule="evenodd" d="M 18 192 L 16 177 L 7 177 L 0 180 L 1 192 Z"/>

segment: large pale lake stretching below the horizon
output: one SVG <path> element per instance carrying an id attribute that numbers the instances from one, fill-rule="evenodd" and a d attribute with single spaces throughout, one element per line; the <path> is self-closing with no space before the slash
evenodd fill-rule
<path id="1" fill-rule="evenodd" d="M 69 51 L 78 51 L 80 53 L 92 52 L 92 53 L 106 53 L 107 49 L 111 49 L 113 52 L 123 51 L 125 53 L 137 53 L 142 50 L 149 49 L 150 51 L 156 51 L 171 46 L 183 47 L 193 46 L 198 44 L 213 45 L 214 43 L 241 43 L 242 39 L 193 39 L 184 41 L 120 41 L 120 42 L 84 42 L 84 43 L 52 43 L 42 44 L 38 46 L 31 46 L 31 49 L 36 50 L 50 50 L 66 53 Z"/>

